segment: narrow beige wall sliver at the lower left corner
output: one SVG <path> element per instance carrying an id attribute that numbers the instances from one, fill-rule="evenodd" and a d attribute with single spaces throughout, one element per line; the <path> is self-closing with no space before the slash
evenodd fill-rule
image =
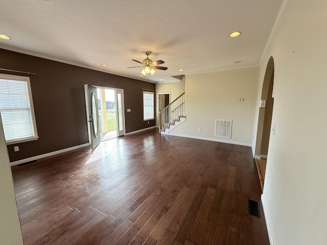
<path id="1" fill-rule="evenodd" d="M 11 169 L 0 117 L 0 243 L 23 244 Z"/>

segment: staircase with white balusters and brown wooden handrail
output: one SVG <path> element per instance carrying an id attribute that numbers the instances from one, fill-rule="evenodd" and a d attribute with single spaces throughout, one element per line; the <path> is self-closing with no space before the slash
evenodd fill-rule
<path id="1" fill-rule="evenodd" d="M 176 100 L 159 111 L 159 133 L 169 134 L 171 130 L 186 120 L 185 115 L 185 92 Z"/>

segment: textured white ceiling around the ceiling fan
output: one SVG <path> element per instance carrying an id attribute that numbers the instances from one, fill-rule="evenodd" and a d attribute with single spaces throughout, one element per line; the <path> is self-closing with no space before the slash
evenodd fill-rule
<path id="1" fill-rule="evenodd" d="M 182 74 L 259 65 L 282 3 L 1 0 L 0 34 L 11 40 L 0 39 L 0 47 L 125 77 L 171 82 Z M 241 36 L 230 38 L 235 31 Z M 161 66 L 168 69 L 141 78 L 141 68 L 126 68 L 138 65 L 131 59 L 145 59 L 145 51 L 152 52 L 153 61 L 164 60 Z"/>

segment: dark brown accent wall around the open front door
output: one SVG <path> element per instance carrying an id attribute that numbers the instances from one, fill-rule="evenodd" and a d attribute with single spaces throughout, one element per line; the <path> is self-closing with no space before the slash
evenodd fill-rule
<path id="1" fill-rule="evenodd" d="M 126 133 L 155 126 L 143 120 L 143 90 L 155 84 L 0 49 L 0 68 L 34 72 L 30 77 L 39 139 L 8 145 L 10 162 L 88 142 L 84 84 L 124 89 Z M 131 112 L 126 113 L 126 109 Z M 19 152 L 13 147 L 19 146 Z"/>

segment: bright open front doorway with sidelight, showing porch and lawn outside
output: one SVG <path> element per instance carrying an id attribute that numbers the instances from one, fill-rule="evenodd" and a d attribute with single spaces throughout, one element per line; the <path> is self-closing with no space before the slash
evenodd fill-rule
<path id="1" fill-rule="evenodd" d="M 98 87 L 101 141 L 125 134 L 123 90 Z"/>

